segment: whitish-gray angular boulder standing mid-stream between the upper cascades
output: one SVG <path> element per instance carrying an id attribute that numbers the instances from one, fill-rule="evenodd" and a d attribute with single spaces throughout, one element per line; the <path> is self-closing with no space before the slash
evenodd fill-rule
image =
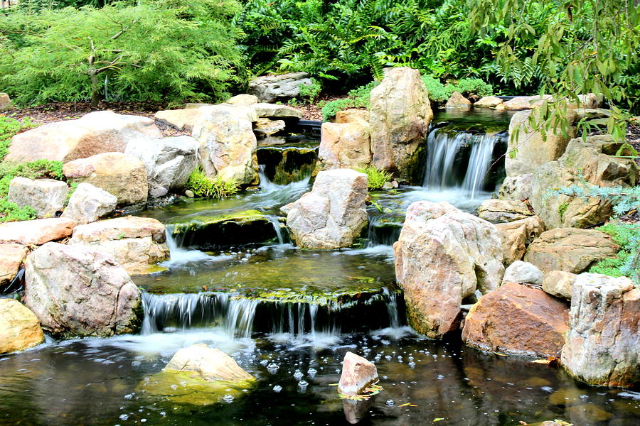
<path id="1" fill-rule="evenodd" d="M 368 222 L 367 175 L 351 169 L 318 173 L 311 192 L 292 204 L 287 226 L 304 249 L 339 249 L 353 244 Z"/>

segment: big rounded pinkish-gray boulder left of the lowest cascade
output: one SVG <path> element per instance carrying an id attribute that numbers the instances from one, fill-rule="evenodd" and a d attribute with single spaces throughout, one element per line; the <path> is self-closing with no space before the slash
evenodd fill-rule
<path id="1" fill-rule="evenodd" d="M 25 261 L 25 305 L 59 337 L 132 333 L 142 321 L 140 290 L 110 256 L 47 243 Z"/>

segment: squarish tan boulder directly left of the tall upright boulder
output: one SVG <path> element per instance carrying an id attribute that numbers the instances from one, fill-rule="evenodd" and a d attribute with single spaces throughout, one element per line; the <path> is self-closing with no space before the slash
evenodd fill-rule
<path id="1" fill-rule="evenodd" d="M 319 170 L 366 168 L 371 163 L 369 124 L 363 120 L 323 123 L 318 160 Z"/>

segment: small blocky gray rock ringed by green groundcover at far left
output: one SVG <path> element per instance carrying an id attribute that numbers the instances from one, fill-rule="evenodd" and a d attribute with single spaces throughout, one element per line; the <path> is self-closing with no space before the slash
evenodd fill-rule
<path id="1" fill-rule="evenodd" d="M 33 207 L 38 219 L 43 219 L 63 211 L 68 193 L 69 187 L 60 180 L 13 178 L 9 183 L 8 200 L 18 207 Z"/>

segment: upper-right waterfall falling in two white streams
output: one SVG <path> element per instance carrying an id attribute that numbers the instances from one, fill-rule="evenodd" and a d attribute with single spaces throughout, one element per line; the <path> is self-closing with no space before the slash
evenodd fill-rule
<path id="1" fill-rule="evenodd" d="M 434 129 L 427 137 L 427 165 L 424 187 L 432 190 L 460 187 L 471 197 L 485 186 L 496 144 L 503 133 Z"/>

